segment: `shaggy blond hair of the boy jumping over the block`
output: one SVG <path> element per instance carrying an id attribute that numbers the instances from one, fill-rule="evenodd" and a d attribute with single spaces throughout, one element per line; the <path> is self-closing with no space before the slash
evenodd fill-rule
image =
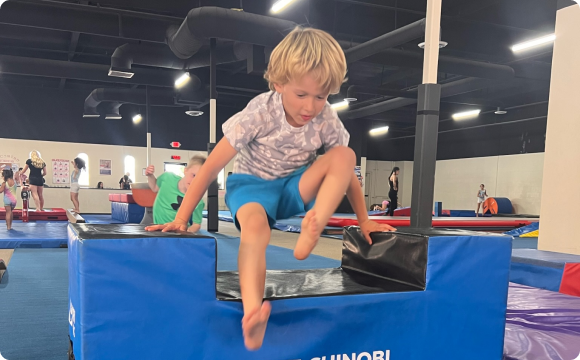
<path id="1" fill-rule="evenodd" d="M 274 84 L 285 85 L 307 73 L 325 91 L 336 94 L 346 76 L 346 59 L 329 33 L 298 26 L 272 51 L 264 78 L 275 91 Z"/>

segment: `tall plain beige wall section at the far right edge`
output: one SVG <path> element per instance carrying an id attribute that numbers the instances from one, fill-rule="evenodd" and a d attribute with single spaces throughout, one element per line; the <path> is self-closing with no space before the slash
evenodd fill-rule
<path id="1" fill-rule="evenodd" d="M 580 203 L 578 19 L 580 6 L 576 5 L 556 14 L 538 249 L 580 255 L 580 241 L 576 237 Z"/>

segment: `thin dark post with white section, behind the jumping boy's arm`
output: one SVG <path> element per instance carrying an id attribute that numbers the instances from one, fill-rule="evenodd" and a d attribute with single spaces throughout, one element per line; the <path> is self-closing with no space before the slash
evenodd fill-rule
<path id="1" fill-rule="evenodd" d="M 211 154 L 216 145 L 216 58 L 215 58 L 216 39 L 210 39 L 210 65 L 209 65 L 209 143 L 207 144 L 207 154 Z M 217 232 L 218 221 L 218 183 L 212 181 L 207 191 L 207 231 Z"/>

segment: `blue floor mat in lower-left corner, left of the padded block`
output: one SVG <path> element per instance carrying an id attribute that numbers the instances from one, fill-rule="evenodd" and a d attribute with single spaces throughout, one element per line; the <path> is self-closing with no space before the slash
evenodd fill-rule
<path id="1" fill-rule="evenodd" d="M 67 249 L 16 249 L 0 283 L 0 355 L 63 360 L 68 349 Z"/>

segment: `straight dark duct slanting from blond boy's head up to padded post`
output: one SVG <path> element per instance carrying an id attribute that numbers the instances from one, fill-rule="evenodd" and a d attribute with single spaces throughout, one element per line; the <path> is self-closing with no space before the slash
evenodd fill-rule
<path id="1" fill-rule="evenodd" d="M 358 44 L 344 51 L 346 62 L 362 60 L 383 50 L 403 45 L 425 35 L 425 19 L 395 29 L 387 34 Z"/>

